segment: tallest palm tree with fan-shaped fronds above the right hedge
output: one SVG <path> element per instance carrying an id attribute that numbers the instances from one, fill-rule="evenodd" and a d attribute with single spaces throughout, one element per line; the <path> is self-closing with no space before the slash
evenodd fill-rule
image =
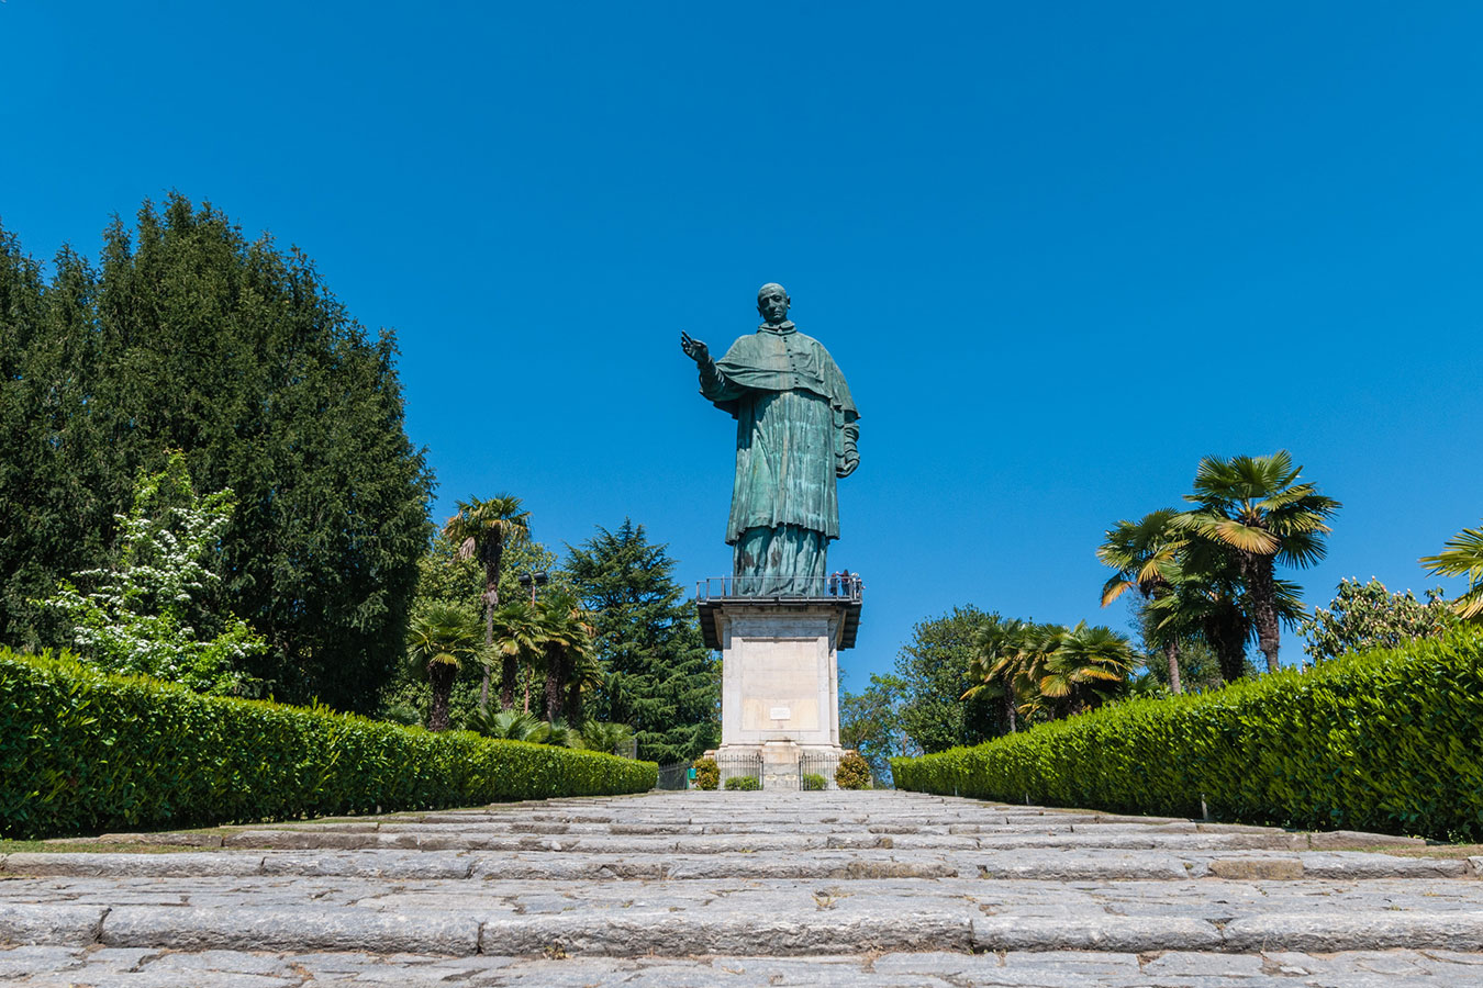
<path id="1" fill-rule="evenodd" d="M 1342 505 L 1298 483 L 1302 467 L 1278 450 L 1271 456 L 1206 456 L 1195 471 L 1198 505 L 1176 515 L 1175 524 L 1204 539 L 1229 547 L 1252 607 L 1258 647 L 1266 670 L 1275 672 L 1280 644 L 1280 607 L 1275 564 L 1312 566 L 1324 555 L 1326 520 Z"/>

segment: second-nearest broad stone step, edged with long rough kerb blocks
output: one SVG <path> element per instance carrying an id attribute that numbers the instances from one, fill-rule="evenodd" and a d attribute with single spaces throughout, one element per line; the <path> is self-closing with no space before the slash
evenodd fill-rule
<path id="1" fill-rule="evenodd" d="M 862 954 L 875 951 L 1215 951 L 1323 954 L 1357 949 L 1483 951 L 1483 909 L 1256 911 L 1213 923 L 1178 915 L 997 912 L 893 898 L 755 912 L 629 908 L 515 915 L 461 909 L 261 905 L 0 905 L 12 945 L 181 951 L 366 951 L 445 955 L 604 957 Z"/>

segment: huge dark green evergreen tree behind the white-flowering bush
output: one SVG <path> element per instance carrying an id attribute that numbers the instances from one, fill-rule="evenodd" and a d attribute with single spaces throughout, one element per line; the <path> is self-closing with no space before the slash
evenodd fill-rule
<path id="1" fill-rule="evenodd" d="M 24 259 L 0 268 L 24 301 Z M 64 252 L 39 329 L 16 311 L 0 332 L 31 335 L 4 401 L 24 455 L 0 504 L 31 533 L 0 550 L 3 640 L 53 643 L 16 601 L 107 564 L 133 475 L 179 449 L 200 489 L 237 493 L 222 590 L 268 641 L 252 674 L 280 699 L 372 708 L 430 533 L 392 333 L 368 338 L 301 252 L 181 196 L 132 231 L 116 219 L 101 271 Z"/>

